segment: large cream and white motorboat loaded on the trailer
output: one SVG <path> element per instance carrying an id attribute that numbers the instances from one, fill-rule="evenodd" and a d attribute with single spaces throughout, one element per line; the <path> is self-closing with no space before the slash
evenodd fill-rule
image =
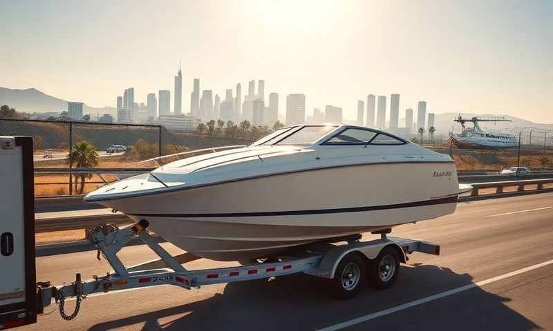
<path id="1" fill-rule="evenodd" d="M 252 261 L 451 214 L 468 189 L 446 154 L 373 128 L 299 125 L 160 165 L 84 200 L 146 220 L 199 257 Z"/>

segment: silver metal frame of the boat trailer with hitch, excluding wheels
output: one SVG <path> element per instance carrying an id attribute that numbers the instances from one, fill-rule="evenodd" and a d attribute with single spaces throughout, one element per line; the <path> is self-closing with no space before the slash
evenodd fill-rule
<path id="1" fill-rule="evenodd" d="M 361 236 L 357 234 L 335 239 L 333 242 L 313 243 L 296 252 L 284 254 L 278 259 L 252 265 L 187 270 L 182 264 L 200 259 L 200 257 L 190 253 L 172 256 L 162 248 L 156 239 L 150 236 L 147 226 L 148 222 L 143 220 L 121 229 L 115 225 L 104 224 L 91 230 L 88 239 L 95 244 L 98 258 L 102 254 L 113 268 L 113 272 L 109 272 L 103 277 L 95 276 L 88 281 L 82 281 L 81 274 L 77 273 L 75 281 L 62 286 L 52 286 L 49 282 L 38 283 L 39 309 L 50 305 L 52 299 L 55 299 L 55 302 L 59 303 L 59 312 L 62 317 L 71 320 L 77 316 L 81 301 L 88 294 L 97 292 L 146 288 L 155 285 L 176 285 L 190 290 L 203 285 L 267 279 L 297 272 L 335 279 L 335 277 L 339 277 L 336 274 L 339 263 L 350 253 L 361 254 L 360 256 L 370 262 L 377 259 L 384 248 L 392 247 L 400 260 L 397 263 L 406 262 L 408 260 L 406 254 L 412 252 L 440 254 L 440 245 L 438 244 L 417 239 L 387 237 L 386 232 L 379 232 L 379 239 L 360 241 Z M 117 252 L 133 237 L 138 237 L 158 255 L 159 259 L 129 268 L 125 267 L 118 258 Z M 75 311 L 70 315 L 64 312 L 64 301 L 68 297 L 76 297 L 77 300 Z"/>

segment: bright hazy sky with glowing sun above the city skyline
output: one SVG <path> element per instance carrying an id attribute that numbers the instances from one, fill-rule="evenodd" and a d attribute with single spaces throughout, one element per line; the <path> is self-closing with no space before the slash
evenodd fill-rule
<path id="1" fill-rule="evenodd" d="M 89 106 L 169 89 L 182 61 L 225 88 L 306 94 L 355 118 L 357 100 L 553 123 L 553 1 L 0 1 L 0 86 Z M 171 95 L 171 108 L 173 100 Z"/>

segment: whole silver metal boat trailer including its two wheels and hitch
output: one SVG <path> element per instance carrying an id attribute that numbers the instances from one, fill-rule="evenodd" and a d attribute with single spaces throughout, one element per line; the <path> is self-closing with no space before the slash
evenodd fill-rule
<path id="1" fill-rule="evenodd" d="M 163 249 L 147 230 L 148 222 L 140 221 L 126 228 L 115 225 L 98 225 L 88 234 L 98 255 L 102 254 L 110 263 L 113 272 L 104 277 L 82 281 L 76 274 L 75 281 L 59 287 L 39 283 L 39 306 L 50 305 L 52 299 L 59 303 L 59 312 L 66 320 L 75 318 L 82 299 L 95 292 L 109 292 L 129 288 L 144 288 L 154 285 L 177 285 L 187 290 L 203 285 L 265 279 L 296 272 L 329 279 L 328 287 L 336 297 L 354 297 L 365 281 L 377 289 L 388 288 L 397 277 L 400 262 L 406 262 L 406 254 L 424 252 L 440 254 L 440 246 L 420 240 L 387 237 L 361 241 L 361 235 L 313 243 L 298 248 L 295 252 L 257 261 L 252 265 L 208 270 L 187 270 L 183 263 L 200 259 L 194 254 L 184 253 L 175 257 Z M 156 252 L 160 259 L 126 268 L 117 257 L 117 252 L 133 237 L 140 238 Z M 64 301 L 76 297 L 77 304 L 72 314 L 64 311 Z"/>

